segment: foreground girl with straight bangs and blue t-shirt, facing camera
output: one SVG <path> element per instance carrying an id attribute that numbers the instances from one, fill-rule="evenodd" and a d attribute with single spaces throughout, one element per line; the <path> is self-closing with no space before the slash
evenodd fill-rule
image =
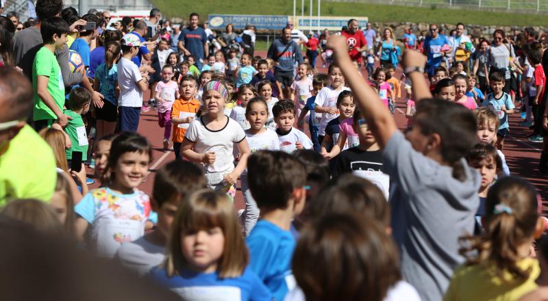
<path id="1" fill-rule="evenodd" d="M 232 202 L 201 189 L 179 206 L 166 261 L 151 276 L 183 300 L 273 300 L 248 261 Z"/>

